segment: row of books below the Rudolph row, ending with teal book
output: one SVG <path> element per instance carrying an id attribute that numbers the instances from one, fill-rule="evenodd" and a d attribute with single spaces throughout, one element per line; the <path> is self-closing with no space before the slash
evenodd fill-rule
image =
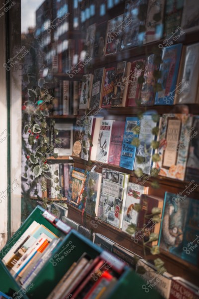
<path id="1" fill-rule="evenodd" d="M 85 173 L 83 169 L 74 168 L 69 203 L 128 233 L 135 243 L 150 242 L 150 235 L 156 234 L 157 239 L 151 241 L 152 246 L 159 244 L 164 250 L 198 264 L 199 249 L 196 247 L 190 254 L 184 250 L 188 249 L 188 244 L 197 241 L 199 233 L 199 203 L 189 196 L 196 186 L 192 180 L 184 195 L 166 192 L 163 199 L 147 195 L 148 188 L 129 182 L 129 174 L 107 168 L 102 168 L 102 174 L 94 171 Z M 87 192 L 85 203 L 83 191 Z M 153 212 L 154 209 L 156 212 Z M 158 223 L 155 221 L 157 214 L 160 218 Z M 135 229 L 138 232 L 135 233 Z"/>

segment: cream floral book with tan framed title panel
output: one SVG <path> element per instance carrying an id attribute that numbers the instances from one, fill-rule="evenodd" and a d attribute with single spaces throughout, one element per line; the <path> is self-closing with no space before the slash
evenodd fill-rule
<path id="1" fill-rule="evenodd" d="M 163 114 L 155 163 L 159 175 L 184 180 L 193 118 L 186 114 Z"/>

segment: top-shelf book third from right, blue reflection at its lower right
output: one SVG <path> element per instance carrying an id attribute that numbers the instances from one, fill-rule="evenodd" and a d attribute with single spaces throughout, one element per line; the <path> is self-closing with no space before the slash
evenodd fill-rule
<path id="1" fill-rule="evenodd" d="M 146 15 L 146 31 L 143 44 L 159 40 L 163 36 L 165 0 L 149 1 Z"/>

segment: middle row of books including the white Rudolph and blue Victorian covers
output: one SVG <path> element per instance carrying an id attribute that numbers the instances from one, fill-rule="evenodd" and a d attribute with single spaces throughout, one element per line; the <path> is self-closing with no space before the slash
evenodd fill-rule
<path id="1" fill-rule="evenodd" d="M 198 130 L 199 117 L 189 114 L 163 114 L 159 121 L 157 114 L 144 114 L 140 119 L 127 117 L 126 122 L 91 116 L 76 126 L 74 148 L 77 143 L 82 147 L 73 155 L 85 160 L 90 156 L 96 166 L 134 169 L 138 176 L 151 176 L 153 166 L 165 177 L 184 180 L 186 175 L 188 181 L 199 181 Z"/>

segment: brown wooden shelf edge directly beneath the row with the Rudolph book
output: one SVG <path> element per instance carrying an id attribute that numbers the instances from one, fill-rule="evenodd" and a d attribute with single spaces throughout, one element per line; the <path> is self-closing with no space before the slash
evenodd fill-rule
<path id="1" fill-rule="evenodd" d="M 112 164 L 105 164 L 105 163 L 101 163 L 98 161 L 92 161 L 92 165 L 88 165 L 88 162 L 81 159 L 80 157 L 75 157 L 73 158 L 74 162 L 75 162 L 75 167 L 79 167 L 79 168 L 84 168 L 84 169 L 91 169 L 94 164 L 97 165 L 97 172 L 101 173 L 102 168 L 109 168 L 112 170 L 116 170 L 116 171 L 121 171 L 121 172 L 125 172 L 130 174 L 130 181 L 134 182 L 134 183 L 138 183 L 140 184 L 142 182 L 142 180 L 139 183 L 139 180 L 137 178 L 137 176 L 134 174 L 134 171 L 123 168 L 123 167 L 119 167 L 116 165 L 112 165 Z M 157 180 L 160 184 L 160 188 L 158 189 L 154 189 L 152 187 L 149 188 L 149 195 L 156 195 L 156 196 L 160 196 L 162 198 L 164 198 L 164 194 L 165 191 L 171 192 L 171 193 L 179 193 L 182 192 L 186 189 L 186 186 L 189 184 L 188 181 L 180 181 L 177 179 L 172 179 L 172 178 L 168 178 L 168 177 L 164 177 L 164 176 L 160 176 L 158 175 L 157 177 L 151 177 L 149 178 L 146 183 L 144 183 L 144 186 L 150 186 L 150 183 L 154 180 Z M 192 186 L 190 185 L 190 188 L 192 188 Z M 190 197 L 192 198 L 196 198 L 199 199 L 199 187 L 196 188 L 196 190 L 194 192 L 191 193 Z"/>

